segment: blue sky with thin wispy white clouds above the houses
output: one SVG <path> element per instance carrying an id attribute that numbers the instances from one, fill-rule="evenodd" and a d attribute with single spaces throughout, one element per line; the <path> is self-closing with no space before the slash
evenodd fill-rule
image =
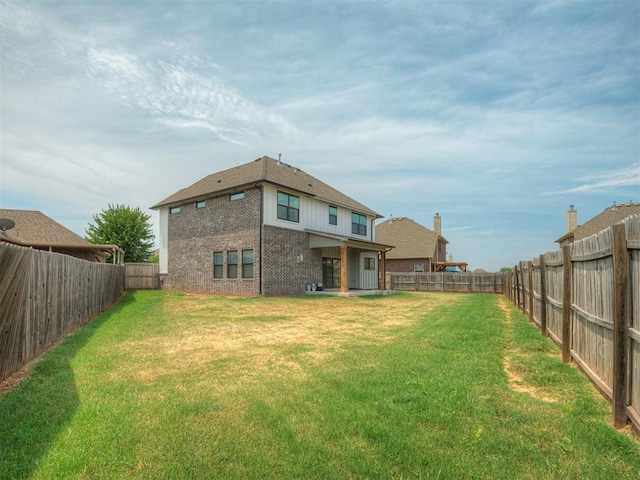
<path id="1" fill-rule="evenodd" d="M 0 207 L 81 236 L 279 154 L 470 270 L 640 201 L 637 1 L 2 0 L 0 41 Z"/>

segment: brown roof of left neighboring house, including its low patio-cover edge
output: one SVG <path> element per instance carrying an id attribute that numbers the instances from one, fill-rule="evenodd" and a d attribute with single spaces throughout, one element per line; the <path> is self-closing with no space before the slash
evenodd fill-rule
<path id="1" fill-rule="evenodd" d="M 38 210 L 0 208 L 0 218 L 15 223 L 6 232 L 0 231 L 1 241 L 37 248 L 122 252 L 116 245 L 95 245 Z"/>

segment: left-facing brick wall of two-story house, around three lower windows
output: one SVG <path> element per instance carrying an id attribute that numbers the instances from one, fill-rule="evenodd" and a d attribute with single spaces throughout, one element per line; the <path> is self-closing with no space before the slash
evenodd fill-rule
<path id="1" fill-rule="evenodd" d="M 260 294 L 260 198 L 258 189 L 243 199 L 228 195 L 195 202 L 169 215 L 168 275 L 163 288 L 187 292 L 251 296 Z M 242 250 L 253 250 L 253 278 L 242 278 Z M 238 278 L 227 279 L 227 252 L 238 252 Z M 213 253 L 223 252 L 223 278 L 213 278 Z"/>

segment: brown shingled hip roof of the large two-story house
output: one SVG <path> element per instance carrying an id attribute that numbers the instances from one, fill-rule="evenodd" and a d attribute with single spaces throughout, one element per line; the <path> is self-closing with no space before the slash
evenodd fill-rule
<path id="1" fill-rule="evenodd" d="M 177 206 L 188 201 L 222 195 L 229 191 L 260 183 L 270 183 L 317 197 L 336 206 L 350 208 L 361 213 L 373 215 L 376 218 L 382 218 L 380 214 L 303 170 L 266 156 L 244 165 L 208 175 L 193 185 L 177 191 L 151 208 Z"/>

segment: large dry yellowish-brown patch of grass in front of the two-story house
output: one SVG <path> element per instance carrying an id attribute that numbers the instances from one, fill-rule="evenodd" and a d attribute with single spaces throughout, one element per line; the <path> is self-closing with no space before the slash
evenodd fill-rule
<path id="1" fill-rule="evenodd" d="M 305 366 L 326 362 L 354 343 L 391 341 L 398 328 L 452 301 L 433 295 L 402 303 L 185 295 L 168 303 L 164 311 L 175 318 L 172 331 L 122 343 L 120 350 L 136 352 L 141 364 L 132 365 L 127 376 L 144 383 L 166 374 L 205 374 L 217 362 L 226 363 L 216 368 L 219 375 L 233 375 L 239 382 L 258 373 L 304 377 Z"/>

